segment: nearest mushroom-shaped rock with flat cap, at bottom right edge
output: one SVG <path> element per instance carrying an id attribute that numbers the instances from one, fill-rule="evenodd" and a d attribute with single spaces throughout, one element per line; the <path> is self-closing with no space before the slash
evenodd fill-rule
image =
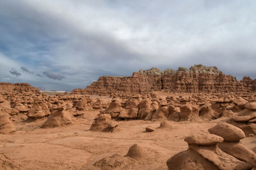
<path id="1" fill-rule="evenodd" d="M 189 136 L 189 149 L 167 160 L 169 169 L 250 169 L 252 166 L 237 160 L 218 148 L 223 138 L 214 134 Z"/>

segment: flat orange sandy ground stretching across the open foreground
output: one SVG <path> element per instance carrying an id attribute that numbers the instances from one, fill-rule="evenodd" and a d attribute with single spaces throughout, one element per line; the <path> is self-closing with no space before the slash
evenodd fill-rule
<path id="1" fill-rule="evenodd" d="M 188 148 L 184 141 L 191 134 L 207 133 L 207 129 L 223 119 L 212 122 L 171 122 L 170 130 L 145 132 L 145 127 L 159 127 L 160 122 L 144 120 L 118 121 L 117 132 L 89 131 L 98 111 L 86 113 L 77 124 L 41 129 L 45 120 L 16 123 L 17 132 L 0 135 L 0 153 L 28 169 L 97 169 L 94 162 L 118 153 L 126 155 L 129 147 L 138 144 L 157 154 L 150 161 L 134 162 L 129 169 L 168 169 L 166 160 Z M 244 145 L 252 149 L 256 138 L 245 138 Z"/>

